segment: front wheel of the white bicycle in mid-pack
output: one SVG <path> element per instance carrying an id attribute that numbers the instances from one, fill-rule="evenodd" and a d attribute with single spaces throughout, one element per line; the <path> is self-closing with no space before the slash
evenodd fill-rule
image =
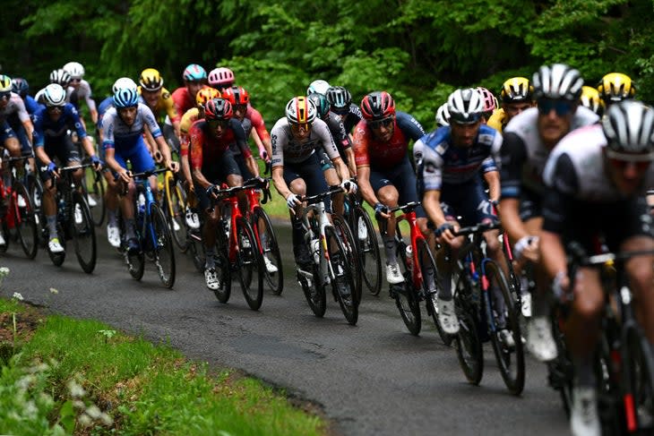
<path id="1" fill-rule="evenodd" d="M 358 298 L 351 269 L 350 253 L 343 245 L 334 227 L 325 228 L 325 237 L 334 274 L 334 278 L 331 280 L 332 290 L 335 295 L 338 295 L 340 310 L 345 315 L 345 319 L 350 325 L 355 325 L 358 320 Z"/>

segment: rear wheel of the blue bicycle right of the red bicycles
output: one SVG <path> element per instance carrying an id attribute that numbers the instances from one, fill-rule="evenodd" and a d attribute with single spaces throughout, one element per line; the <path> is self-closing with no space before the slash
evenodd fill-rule
<path id="1" fill-rule="evenodd" d="M 456 355 L 466 379 L 478 385 L 484 375 L 484 350 L 478 334 L 477 306 L 471 301 L 473 289 L 467 280 L 459 278 L 460 286 L 454 295 L 454 307 L 459 318 L 459 334 L 454 339 Z"/>

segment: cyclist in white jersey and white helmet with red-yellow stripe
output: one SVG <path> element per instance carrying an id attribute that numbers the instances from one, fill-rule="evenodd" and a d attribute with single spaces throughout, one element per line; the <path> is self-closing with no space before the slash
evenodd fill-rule
<path id="1" fill-rule="evenodd" d="M 280 118 L 271 130 L 272 182 L 277 192 L 286 199 L 293 227 L 293 253 L 299 268 L 310 266 L 312 261 L 304 243 L 302 222 L 296 216 L 299 197 L 315 195 L 328 190 L 316 148 L 322 146 L 340 175 L 341 186 L 355 189 L 349 182 L 348 167 L 340 158 L 329 127 L 317 117 L 314 102 L 304 96 L 291 98 L 286 105 L 286 116 Z M 325 204 L 331 213 L 329 201 Z"/>

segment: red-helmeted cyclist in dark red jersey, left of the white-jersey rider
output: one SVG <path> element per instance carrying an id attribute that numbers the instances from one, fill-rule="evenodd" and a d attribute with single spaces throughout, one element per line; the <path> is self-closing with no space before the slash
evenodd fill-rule
<path id="1" fill-rule="evenodd" d="M 231 103 L 224 98 L 211 98 L 204 106 L 204 119 L 196 121 L 189 131 L 191 137 L 191 171 L 195 193 L 205 218 L 202 241 L 206 254 L 204 280 L 211 290 L 219 289 L 221 283 L 216 271 L 216 229 L 219 225 L 219 208 L 209 209 L 210 196 L 214 196 L 221 183 L 240 186 L 243 177 L 238 169 L 230 144 L 237 142 L 248 167 L 259 175 L 252 152 L 246 145 L 243 127 L 234 118 Z"/>

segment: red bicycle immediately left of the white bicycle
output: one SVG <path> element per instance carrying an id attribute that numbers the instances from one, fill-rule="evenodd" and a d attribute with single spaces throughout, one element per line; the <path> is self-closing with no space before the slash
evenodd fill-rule
<path id="1" fill-rule="evenodd" d="M 211 207 L 220 206 L 218 203 L 226 201 L 224 204 L 229 209 L 223 209 L 217 229 L 216 272 L 220 283 L 213 293 L 220 303 L 227 303 L 231 295 L 232 273 L 238 273 L 245 302 L 250 309 L 257 311 L 263 301 L 263 255 L 248 218 L 238 206 L 237 198 L 239 192 L 249 189 L 252 186 L 228 188 L 223 184 L 222 189 L 214 192 L 216 198 L 211 198 Z"/>

